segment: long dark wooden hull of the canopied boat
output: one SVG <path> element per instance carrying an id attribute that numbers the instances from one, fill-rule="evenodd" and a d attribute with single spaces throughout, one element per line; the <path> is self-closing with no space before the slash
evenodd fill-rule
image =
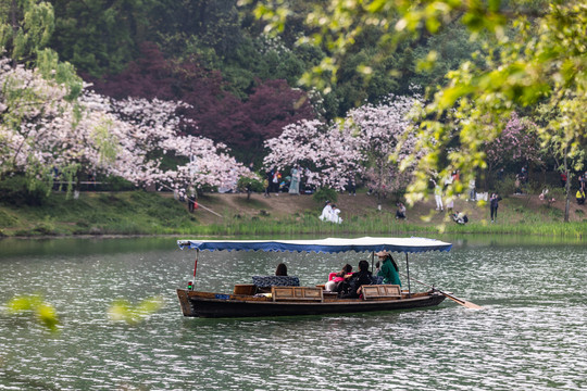
<path id="1" fill-rule="evenodd" d="M 184 316 L 263 317 L 365 313 L 436 306 L 445 300 L 437 292 L 414 293 L 411 298 L 365 301 L 329 299 L 320 302 L 275 302 L 252 297 L 177 289 Z"/>

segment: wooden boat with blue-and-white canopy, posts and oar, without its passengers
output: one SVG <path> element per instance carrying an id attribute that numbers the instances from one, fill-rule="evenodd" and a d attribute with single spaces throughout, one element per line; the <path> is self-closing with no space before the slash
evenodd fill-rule
<path id="1" fill-rule="evenodd" d="M 324 291 L 322 286 L 299 287 L 274 285 L 236 285 L 232 293 L 202 292 L 192 289 L 177 289 L 177 297 L 184 316 L 198 317 L 261 317 L 363 313 L 374 311 L 394 311 L 423 308 L 438 305 L 445 298 L 460 300 L 450 294 L 430 289 L 425 292 L 412 292 L 410 286 L 410 266 L 408 254 L 428 251 L 449 251 L 452 247 L 439 240 L 426 238 L 358 238 L 323 240 L 178 240 L 179 248 L 197 250 L 193 277 L 201 250 L 222 251 L 289 251 L 338 253 L 347 251 L 375 252 L 388 251 L 405 254 L 408 290 L 395 285 L 370 285 L 362 287 L 362 298 L 341 299 L 334 292 Z M 259 282 L 258 282 L 259 283 Z M 295 283 L 292 283 L 295 285 Z M 261 289 L 263 288 L 263 289 Z M 264 293 L 260 293 L 263 291 Z M 463 303 L 467 303 L 462 301 Z M 462 303 L 460 303 L 462 304 Z"/>

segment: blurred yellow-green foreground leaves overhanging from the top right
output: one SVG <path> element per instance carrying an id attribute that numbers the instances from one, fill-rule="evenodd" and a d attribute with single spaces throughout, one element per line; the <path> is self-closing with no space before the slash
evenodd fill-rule
<path id="1" fill-rule="evenodd" d="M 258 15 L 272 28 L 284 30 L 291 8 L 278 2 L 276 9 L 261 3 Z M 538 136 L 552 154 L 578 168 L 584 160 L 587 105 L 587 67 L 585 25 L 587 7 L 583 1 L 550 1 L 547 10 L 527 1 L 464 0 L 391 0 L 348 2 L 334 0 L 316 4 L 307 17 L 315 30 L 311 39 L 327 48 L 327 55 L 303 80 L 326 91 L 334 90 L 342 64 L 353 52 L 355 42 L 371 26 L 378 26 L 378 49 L 386 59 L 399 52 L 402 42 L 424 40 L 427 35 L 447 31 L 458 21 L 464 29 L 455 39 L 444 36 L 428 40 L 427 52 L 416 53 L 420 68 L 448 72 L 447 81 L 422 115 L 415 181 L 409 188 L 408 201 L 414 203 L 428 192 L 429 176 L 446 177 L 454 169 L 467 182 L 478 169 L 486 168 L 484 142 L 501 133 L 514 110 L 535 111 L 538 103 L 548 115 L 538 127 Z M 449 31 L 449 33 L 454 33 Z M 463 34 L 464 31 L 464 34 Z M 473 59 L 459 49 L 465 37 L 477 40 L 467 45 L 479 48 Z M 445 43 L 454 42 L 448 47 Z M 455 53 L 457 55 L 453 55 Z M 450 63 L 447 58 L 460 59 Z M 366 59 L 365 59 L 366 60 Z M 424 60 L 424 61 L 422 61 Z M 438 61 L 445 63 L 437 64 Z M 371 61 L 371 59 L 369 59 Z M 369 75 L 372 63 L 363 62 Z M 395 66 L 401 74 L 401 67 Z M 438 80 L 428 77 L 428 80 Z M 358 97 L 360 98 L 360 96 Z M 415 156 L 412 156 L 415 161 Z M 451 195 L 462 182 L 449 187 Z"/>

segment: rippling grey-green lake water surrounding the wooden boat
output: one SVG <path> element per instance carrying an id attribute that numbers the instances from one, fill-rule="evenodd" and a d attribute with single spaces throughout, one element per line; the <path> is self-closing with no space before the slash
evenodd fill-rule
<path id="1" fill-rule="evenodd" d="M 444 240 L 422 281 L 486 307 L 264 319 L 184 318 L 175 288 L 195 252 L 175 239 L 0 241 L 0 390 L 578 390 L 587 388 L 587 245 Z M 279 262 L 303 285 L 363 255 L 200 253 L 198 289 L 230 292 Z M 402 272 L 404 265 L 402 265 Z M 59 333 L 4 303 L 41 292 Z M 138 326 L 115 299 L 161 295 Z"/>

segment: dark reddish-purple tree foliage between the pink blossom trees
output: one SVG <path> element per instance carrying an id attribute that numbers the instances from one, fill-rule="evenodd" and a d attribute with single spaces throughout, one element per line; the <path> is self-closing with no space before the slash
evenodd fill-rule
<path id="1" fill-rule="evenodd" d="M 241 100 L 224 89 L 220 72 L 205 70 L 196 60 L 173 63 L 153 43 L 143 43 L 141 56 L 123 73 L 88 79 L 97 92 L 116 99 L 158 98 L 190 104 L 182 114 L 196 126 L 185 125 L 184 130 L 226 143 L 242 159 L 262 152 L 263 141 L 278 136 L 284 126 L 314 117 L 305 92 L 285 80 L 258 79 L 249 98 Z"/>

